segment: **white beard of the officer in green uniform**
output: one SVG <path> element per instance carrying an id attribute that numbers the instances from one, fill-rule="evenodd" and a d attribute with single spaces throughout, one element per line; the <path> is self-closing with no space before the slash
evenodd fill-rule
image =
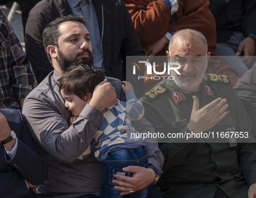
<path id="1" fill-rule="evenodd" d="M 188 92 L 188 93 L 193 93 L 196 90 L 198 90 L 198 87 L 200 86 L 203 77 L 204 77 L 204 72 L 207 69 L 207 62 L 204 64 L 204 70 L 201 71 L 201 73 L 195 73 L 195 72 L 185 72 L 182 71 L 181 75 L 179 75 L 178 73 L 176 73 L 174 70 L 171 70 L 171 76 L 175 77 L 175 79 L 173 80 L 175 82 L 175 84 L 180 87 L 182 90 Z M 194 75 L 195 78 L 193 79 L 185 79 L 183 76 L 186 75 Z"/>

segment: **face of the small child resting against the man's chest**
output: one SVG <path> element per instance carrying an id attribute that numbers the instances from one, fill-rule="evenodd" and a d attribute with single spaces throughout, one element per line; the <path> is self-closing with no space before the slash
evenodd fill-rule
<path id="1" fill-rule="evenodd" d="M 65 99 L 65 107 L 68 108 L 68 111 L 72 113 L 74 116 L 79 116 L 82 110 L 84 109 L 87 101 L 82 100 L 76 95 L 66 95 L 61 90 L 62 97 Z"/>

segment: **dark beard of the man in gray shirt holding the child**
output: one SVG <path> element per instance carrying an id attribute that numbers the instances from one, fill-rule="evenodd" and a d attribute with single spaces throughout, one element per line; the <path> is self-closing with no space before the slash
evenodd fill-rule
<path id="1" fill-rule="evenodd" d="M 85 52 L 89 53 L 89 57 L 81 57 L 79 59 L 78 56 Z M 63 54 L 62 51 L 58 48 L 57 62 L 63 71 L 67 71 L 68 67 L 70 67 L 71 65 L 74 65 L 74 64 L 94 65 L 92 53 L 88 49 L 83 49 L 83 50 L 79 51 L 77 54 L 75 54 L 74 57 L 68 57 L 65 54 Z"/>

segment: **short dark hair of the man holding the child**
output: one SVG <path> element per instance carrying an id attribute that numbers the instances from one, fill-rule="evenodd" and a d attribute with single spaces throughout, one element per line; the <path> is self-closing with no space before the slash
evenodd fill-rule
<path id="1" fill-rule="evenodd" d="M 47 54 L 48 60 L 52 64 L 52 58 L 50 54 L 47 52 L 47 47 L 49 45 L 55 45 L 58 47 L 58 38 L 60 36 L 60 32 L 58 29 L 58 26 L 62 22 L 66 21 L 77 21 L 81 22 L 86 26 L 86 22 L 83 16 L 75 16 L 74 14 L 68 15 L 68 16 L 61 16 L 55 19 L 54 21 L 50 22 L 48 25 L 45 26 L 43 33 L 42 33 L 42 42 L 43 46 L 45 48 L 45 52 Z"/>

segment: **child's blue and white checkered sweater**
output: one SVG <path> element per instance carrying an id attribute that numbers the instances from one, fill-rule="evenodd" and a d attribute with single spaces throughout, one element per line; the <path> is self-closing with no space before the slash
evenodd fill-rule
<path id="1" fill-rule="evenodd" d="M 127 102 L 117 100 L 116 104 L 103 110 L 103 118 L 94 139 L 78 159 L 86 159 L 92 151 L 97 160 L 104 163 L 107 154 L 111 151 L 145 145 L 140 138 L 133 138 L 139 137 L 138 135 L 131 136 L 139 132 L 133 128 L 130 122 L 143 117 L 142 102 L 132 92 L 126 93 L 126 100 Z"/>

